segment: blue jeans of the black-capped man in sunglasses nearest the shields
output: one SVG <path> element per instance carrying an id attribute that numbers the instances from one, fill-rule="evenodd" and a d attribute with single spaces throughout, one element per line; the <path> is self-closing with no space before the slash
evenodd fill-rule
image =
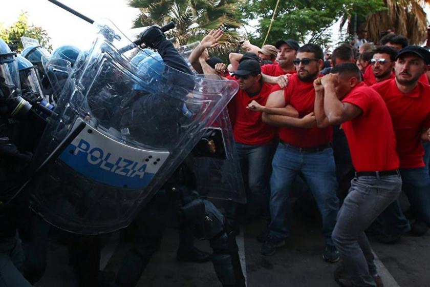
<path id="1" fill-rule="evenodd" d="M 251 146 L 236 142 L 243 182 L 247 192 L 248 213 L 259 214 L 269 206 L 269 171 L 272 146 Z"/>

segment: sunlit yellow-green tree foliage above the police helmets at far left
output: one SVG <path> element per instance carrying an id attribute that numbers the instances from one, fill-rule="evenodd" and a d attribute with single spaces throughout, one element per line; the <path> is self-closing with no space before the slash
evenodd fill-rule
<path id="1" fill-rule="evenodd" d="M 0 38 L 2 38 L 8 44 L 16 43 L 17 51 L 23 50 L 23 44 L 21 43 L 21 37 L 30 37 L 37 39 L 40 46 L 45 47 L 48 51 L 52 52 L 52 45 L 49 44 L 51 38 L 48 33 L 41 27 L 36 27 L 28 23 L 27 12 L 22 12 L 15 23 L 9 28 L 0 25 Z"/>

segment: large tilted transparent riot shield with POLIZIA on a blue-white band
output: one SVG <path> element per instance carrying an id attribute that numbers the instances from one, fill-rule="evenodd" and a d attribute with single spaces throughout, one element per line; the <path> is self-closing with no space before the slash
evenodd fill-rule
<path id="1" fill-rule="evenodd" d="M 80 122 L 85 128 L 28 187 L 37 213 L 81 234 L 128 226 L 238 90 L 234 81 L 183 73 L 155 58 L 133 64 L 144 51 L 112 23 L 95 25 L 100 33 L 63 86 L 36 163 Z"/>

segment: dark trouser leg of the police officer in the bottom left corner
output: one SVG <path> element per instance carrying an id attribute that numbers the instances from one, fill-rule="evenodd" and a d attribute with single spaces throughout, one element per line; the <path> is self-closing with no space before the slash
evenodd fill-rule
<path id="1" fill-rule="evenodd" d="M 31 286 L 20 272 L 24 259 L 24 251 L 18 235 L 0 238 L 0 286 Z"/>

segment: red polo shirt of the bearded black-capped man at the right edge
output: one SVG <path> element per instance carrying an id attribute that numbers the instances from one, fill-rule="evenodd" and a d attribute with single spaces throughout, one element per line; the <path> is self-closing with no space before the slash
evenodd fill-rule
<path id="1" fill-rule="evenodd" d="M 418 82 L 403 94 L 395 79 L 372 86 L 383 98 L 393 120 L 400 168 L 424 167 L 421 131 L 430 128 L 430 86 Z"/>

